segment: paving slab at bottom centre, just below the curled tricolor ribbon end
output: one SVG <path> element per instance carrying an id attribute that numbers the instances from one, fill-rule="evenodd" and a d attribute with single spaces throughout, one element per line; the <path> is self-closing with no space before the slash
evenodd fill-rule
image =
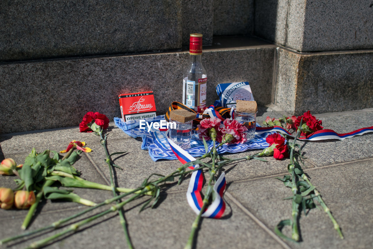
<path id="1" fill-rule="evenodd" d="M 184 194 L 167 195 L 156 209 L 145 209 L 139 213 L 139 206 L 132 208 L 143 201 L 144 198 L 138 200 L 125 213 L 135 248 L 183 248 L 195 218 Z M 41 213 L 30 229 L 43 227 L 75 212 L 77 210 Z M 234 203 L 229 204 L 224 217 L 220 220 L 203 219 L 197 248 L 282 248 Z M 127 248 L 118 216 L 108 215 L 99 221 L 99 224 L 68 236 L 50 248 Z M 3 222 L 8 222 L 9 227 L 0 228 L 1 238 L 18 233 L 22 219 L 8 218 Z M 17 244 L 11 248 L 25 245 L 27 244 Z"/>

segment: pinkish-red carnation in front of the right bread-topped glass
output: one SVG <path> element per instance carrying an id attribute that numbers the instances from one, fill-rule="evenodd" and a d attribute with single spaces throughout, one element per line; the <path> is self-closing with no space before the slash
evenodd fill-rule
<path id="1" fill-rule="evenodd" d="M 244 132 L 247 131 L 247 128 L 237 120 L 226 119 L 224 120 L 223 124 L 224 127 L 222 127 L 220 130 L 223 134 L 225 134 L 225 140 L 230 139 L 230 141 L 228 140 L 229 142 L 227 142 L 227 144 L 242 144 L 246 141 L 246 133 Z"/>

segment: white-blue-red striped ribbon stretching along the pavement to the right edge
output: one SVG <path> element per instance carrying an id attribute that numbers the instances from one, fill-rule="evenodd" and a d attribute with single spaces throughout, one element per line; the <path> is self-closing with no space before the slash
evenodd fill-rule
<path id="1" fill-rule="evenodd" d="M 256 127 L 256 134 L 261 134 L 264 132 L 271 132 L 271 131 L 276 131 L 280 133 L 284 133 L 288 136 L 295 137 L 294 135 L 291 135 L 286 129 L 284 129 L 281 126 L 271 126 L 271 127 Z M 359 136 L 363 135 L 368 132 L 373 132 L 373 126 L 370 127 L 364 127 L 358 130 L 354 130 L 352 132 L 348 133 L 337 133 L 334 130 L 330 129 L 322 129 L 318 130 L 316 132 L 311 133 L 310 135 L 307 136 L 302 136 L 298 139 L 301 140 L 308 140 L 308 141 L 317 141 L 317 140 L 325 140 L 325 139 L 339 139 L 343 140 L 346 138 L 352 138 L 353 136 Z"/>

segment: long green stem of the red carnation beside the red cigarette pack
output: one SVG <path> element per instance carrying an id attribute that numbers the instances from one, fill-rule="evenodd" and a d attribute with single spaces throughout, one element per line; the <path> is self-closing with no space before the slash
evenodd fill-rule
<path id="1" fill-rule="evenodd" d="M 101 145 L 102 145 L 102 147 L 104 147 L 105 154 L 106 154 L 106 163 L 109 166 L 110 184 L 111 184 L 111 188 L 112 188 L 112 191 L 113 191 L 113 196 L 116 197 L 118 195 L 117 195 L 116 187 L 115 187 L 114 180 L 113 180 L 113 169 L 112 169 L 113 162 L 112 162 L 112 159 L 110 157 L 109 151 L 107 150 L 106 136 L 105 136 L 105 138 L 102 137 L 102 130 L 100 130 L 99 134 L 100 134 L 100 138 L 101 138 Z M 117 200 L 116 202 L 119 203 L 119 200 Z M 132 246 L 132 243 L 131 243 L 131 239 L 129 238 L 128 228 L 127 228 L 127 222 L 126 222 L 126 219 L 124 218 L 122 208 L 118 209 L 118 213 L 119 213 L 120 224 L 122 224 L 128 248 L 132 249 L 133 246 Z"/>

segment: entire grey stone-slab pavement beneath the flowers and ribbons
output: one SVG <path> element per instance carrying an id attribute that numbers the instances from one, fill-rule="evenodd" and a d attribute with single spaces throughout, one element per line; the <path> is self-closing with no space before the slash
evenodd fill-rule
<path id="1" fill-rule="evenodd" d="M 257 121 L 261 124 L 267 116 L 282 117 L 285 114 L 275 108 L 260 108 Z M 325 129 L 338 133 L 372 126 L 373 109 L 326 113 L 315 115 L 323 121 Z M 115 169 L 116 183 L 120 187 L 135 188 L 150 173 L 166 175 L 178 168 L 177 160 L 153 162 L 148 151 L 141 150 L 141 139 L 126 135 L 113 122 L 108 128 L 109 152 L 128 151 L 115 163 L 123 170 Z M 13 158 L 17 164 L 24 162 L 33 147 L 38 152 L 46 149 L 64 150 L 70 141 L 85 141 L 93 151 L 82 153 L 74 164 L 82 177 L 101 184 L 109 184 L 109 170 L 104 162 L 104 151 L 99 139 L 92 133 L 80 133 L 78 127 L 12 133 L 0 136 L 0 159 Z M 227 188 L 227 205 L 222 219 L 203 219 L 197 237 L 197 248 L 372 248 L 373 245 L 373 133 L 354 138 L 303 142 L 304 171 L 320 191 L 336 221 L 342 228 L 345 239 L 339 238 L 327 214 L 312 209 L 300 217 L 302 242 L 292 243 L 280 239 L 273 232 L 279 221 L 291 218 L 291 196 L 276 177 L 287 174 L 289 160 L 259 162 L 250 160 L 224 168 Z M 257 151 L 228 154 L 238 158 Z M 1 176 L 0 187 L 14 188 L 15 176 Z M 129 234 L 135 248 L 183 248 L 191 230 L 195 213 L 188 206 L 185 192 L 188 178 L 181 185 L 174 185 L 162 194 L 162 202 L 156 208 L 147 208 L 139 213 L 142 197 L 125 206 Z M 74 193 L 96 203 L 112 197 L 110 191 L 74 189 Z M 39 205 L 29 230 L 44 227 L 85 206 L 68 202 L 46 201 Z M 22 233 L 20 227 L 26 210 L 0 210 L 0 239 Z M 289 230 L 284 229 L 289 235 Z M 56 233 L 31 236 L 25 242 L 16 240 L 0 248 L 24 248 L 30 242 Z M 119 216 L 109 214 L 77 233 L 48 248 L 127 248 Z"/>

